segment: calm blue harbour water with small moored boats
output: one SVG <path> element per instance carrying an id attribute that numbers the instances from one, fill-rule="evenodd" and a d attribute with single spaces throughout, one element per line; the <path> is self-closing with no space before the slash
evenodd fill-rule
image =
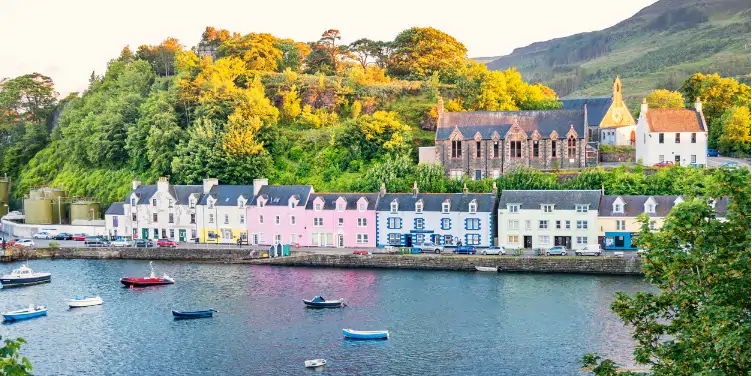
<path id="1" fill-rule="evenodd" d="M 10 272 L 20 264 L 0 265 Z M 155 262 L 175 285 L 121 287 L 148 262 L 32 261 L 52 283 L 0 290 L 0 311 L 30 303 L 47 317 L 0 325 L 23 337 L 37 375 L 572 375 L 597 351 L 631 363 L 629 332 L 609 311 L 640 278 L 404 270 L 309 269 Z M 344 309 L 302 299 L 344 297 Z M 65 300 L 100 295 L 103 306 Z M 212 307 L 211 319 L 170 311 Z M 342 328 L 388 329 L 387 341 L 342 338 Z"/>

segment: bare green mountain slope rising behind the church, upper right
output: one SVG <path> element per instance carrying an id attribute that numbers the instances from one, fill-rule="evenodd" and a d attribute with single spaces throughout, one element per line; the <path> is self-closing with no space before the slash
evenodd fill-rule
<path id="1" fill-rule="evenodd" d="M 749 35 L 747 0 L 660 0 L 610 28 L 533 43 L 486 65 L 517 67 L 562 97 L 607 95 L 616 75 L 627 95 L 642 96 L 677 89 L 695 72 L 749 82 Z"/>

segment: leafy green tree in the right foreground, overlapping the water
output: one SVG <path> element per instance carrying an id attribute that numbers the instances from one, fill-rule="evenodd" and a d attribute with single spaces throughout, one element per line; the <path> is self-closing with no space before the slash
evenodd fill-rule
<path id="1" fill-rule="evenodd" d="M 639 218 L 643 271 L 657 291 L 618 293 L 611 304 L 633 328 L 635 360 L 654 375 L 750 372 L 750 175 L 719 169 L 709 179 L 706 196 L 685 196 L 660 231 L 650 230 L 646 215 Z M 728 201 L 720 221 L 710 203 L 722 198 Z"/>

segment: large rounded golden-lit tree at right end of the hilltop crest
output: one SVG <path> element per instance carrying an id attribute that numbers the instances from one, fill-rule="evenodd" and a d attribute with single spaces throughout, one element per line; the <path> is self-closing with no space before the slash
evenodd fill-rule
<path id="1" fill-rule="evenodd" d="M 387 70 L 399 77 L 425 79 L 438 72 L 450 80 L 467 60 L 467 48 L 432 27 L 413 27 L 397 35 Z"/>

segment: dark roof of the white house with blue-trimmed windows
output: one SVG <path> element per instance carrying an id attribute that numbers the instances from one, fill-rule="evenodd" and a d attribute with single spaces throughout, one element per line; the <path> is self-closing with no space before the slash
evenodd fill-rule
<path id="1" fill-rule="evenodd" d="M 379 198 L 379 204 L 376 210 L 391 210 L 392 201 L 399 202 L 399 210 L 415 210 L 415 203 L 423 200 L 423 211 L 441 211 L 441 205 L 444 201 L 449 200 L 450 211 L 468 211 L 470 202 L 476 200 L 478 203 L 477 211 L 493 212 L 496 210 L 496 195 L 493 193 L 419 193 L 413 197 L 412 193 L 387 193 Z"/>

